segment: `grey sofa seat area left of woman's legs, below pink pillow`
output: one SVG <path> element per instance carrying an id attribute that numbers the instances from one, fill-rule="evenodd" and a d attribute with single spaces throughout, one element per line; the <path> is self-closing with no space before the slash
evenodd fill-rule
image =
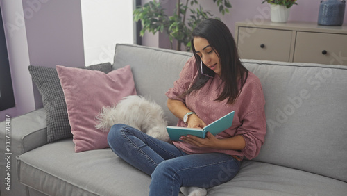
<path id="1" fill-rule="evenodd" d="M 17 158 L 18 181 L 48 195 L 148 195 L 151 178 L 109 148 L 75 153 L 65 139 Z"/>

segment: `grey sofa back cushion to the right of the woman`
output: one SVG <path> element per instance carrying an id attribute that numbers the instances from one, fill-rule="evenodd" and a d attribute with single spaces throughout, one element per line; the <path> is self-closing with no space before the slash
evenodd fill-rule
<path id="1" fill-rule="evenodd" d="M 267 133 L 255 160 L 347 181 L 347 66 L 243 62 L 266 101 Z"/>

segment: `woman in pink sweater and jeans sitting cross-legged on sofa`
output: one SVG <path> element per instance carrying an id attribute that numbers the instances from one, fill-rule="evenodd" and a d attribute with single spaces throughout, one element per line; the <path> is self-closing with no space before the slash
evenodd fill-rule
<path id="1" fill-rule="evenodd" d="M 264 142 L 262 85 L 239 60 L 228 27 L 217 19 L 201 22 L 193 31 L 192 49 L 194 56 L 166 93 L 178 126 L 204 127 L 231 111 L 234 120 L 217 136 L 182 136 L 173 144 L 124 124 L 112 126 L 108 135 L 112 151 L 151 175 L 149 195 L 178 195 L 180 187 L 211 188 L 230 181 L 240 161 L 257 156 Z M 202 72 L 201 63 L 213 72 Z M 181 190 L 189 195 L 189 188 Z M 205 189 L 193 190 L 206 194 Z"/>

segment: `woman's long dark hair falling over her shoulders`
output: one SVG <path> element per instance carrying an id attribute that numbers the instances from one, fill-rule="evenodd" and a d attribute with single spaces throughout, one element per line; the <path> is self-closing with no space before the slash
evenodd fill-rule
<path id="1" fill-rule="evenodd" d="M 221 79 L 225 85 L 216 101 L 227 99 L 228 104 L 233 104 L 239 96 L 239 92 L 242 91 L 244 83 L 246 83 L 248 70 L 242 65 L 241 60 L 239 60 L 235 40 L 228 26 L 219 19 L 205 19 L 194 28 L 192 36 L 191 44 L 199 74 L 192 87 L 183 95 L 199 90 L 210 79 L 208 76 L 201 74 L 201 58 L 196 54 L 194 48 L 194 37 L 201 37 L 208 40 L 208 44 L 210 44 L 214 52 L 218 55 L 221 64 Z M 237 86 L 238 79 L 241 81 L 241 88 Z"/>

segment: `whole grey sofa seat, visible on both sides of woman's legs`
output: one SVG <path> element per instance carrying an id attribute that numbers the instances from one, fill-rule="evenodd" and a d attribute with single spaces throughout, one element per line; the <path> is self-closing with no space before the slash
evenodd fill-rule
<path id="1" fill-rule="evenodd" d="M 49 195 L 149 194 L 151 178 L 148 175 L 122 161 L 110 149 L 74 153 L 71 139 L 33 149 L 19 156 L 17 162 L 18 180 Z M 224 175 L 228 175 L 228 168 L 221 168 L 220 177 Z M 345 193 L 345 182 L 256 161 L 244 161 L 232 181 L 208 190 L 208 195 L 217 196 Z"/>

